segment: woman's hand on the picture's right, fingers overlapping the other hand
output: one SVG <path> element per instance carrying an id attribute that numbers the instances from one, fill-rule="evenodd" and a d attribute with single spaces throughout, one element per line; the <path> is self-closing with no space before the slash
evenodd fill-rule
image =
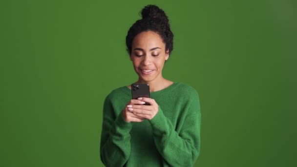
<path id="1" fill-rule="evenodd" d="M 138 98 L 142 102 L 149 103 L 150 105 L 128 105 L 128 110 L 133 112 L 134 115 L 151 120 L 159 111 L 159 105 L 151 98 Z"/>

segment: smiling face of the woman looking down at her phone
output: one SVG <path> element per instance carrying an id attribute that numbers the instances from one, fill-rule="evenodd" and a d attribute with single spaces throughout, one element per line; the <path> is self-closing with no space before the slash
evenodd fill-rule
<path id="1" fill-rule="evenodd" d="M 168 51 L 165 51 L 165 43 L 159 34 L 144 31 L 133 39 L 130 59 L 140 81 L 148 83 L 162 79 L 162 69 L 168 58 Z"/>

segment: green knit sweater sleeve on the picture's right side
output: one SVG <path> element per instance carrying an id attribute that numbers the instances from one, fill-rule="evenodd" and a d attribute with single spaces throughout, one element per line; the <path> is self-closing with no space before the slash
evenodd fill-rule
<path id="1" fill-rule="evenodd" d="M 155 145 L 163 159 L 173 167 L 193 166 L 200 151 L 201 113 L 198 95 L 187 110 L 184 111 L 188 113 L 184 120 L 179 120 L 178 124 L 182 126 L 179 133 L 160 106 L 158 113 L 150 120 Z"/>

